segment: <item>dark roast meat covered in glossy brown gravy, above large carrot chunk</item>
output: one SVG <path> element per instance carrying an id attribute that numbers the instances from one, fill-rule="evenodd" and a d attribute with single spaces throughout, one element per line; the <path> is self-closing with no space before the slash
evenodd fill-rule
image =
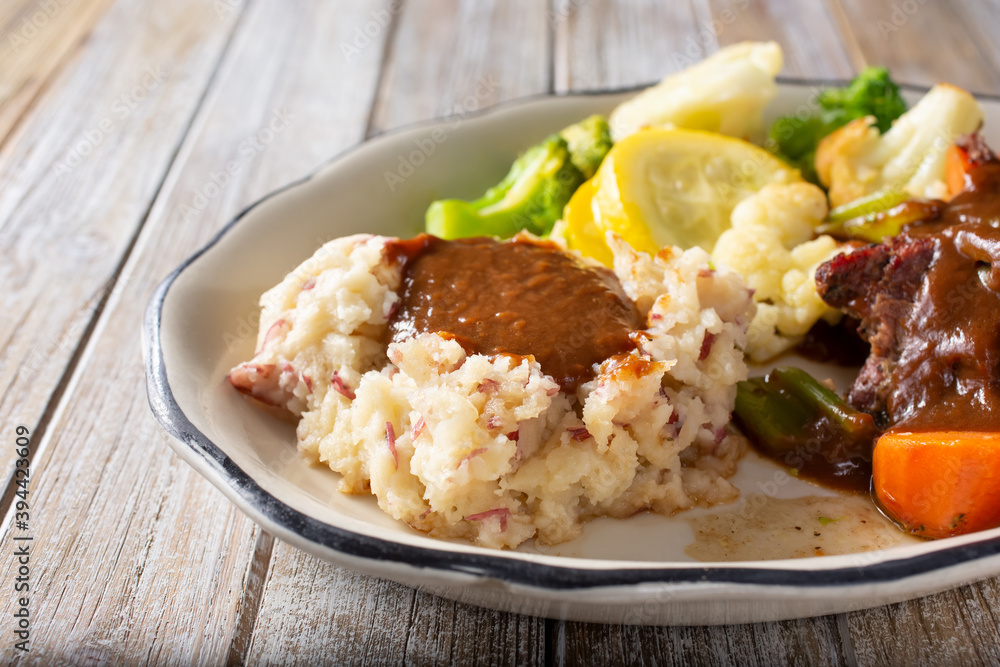
<path id="1" fill-rule="evenodd" d="M 816 271 L 871 345 L 848 401 L 882 427 L 1000 430 L 1000 161 L 977 138 L 938 217 Z"/>

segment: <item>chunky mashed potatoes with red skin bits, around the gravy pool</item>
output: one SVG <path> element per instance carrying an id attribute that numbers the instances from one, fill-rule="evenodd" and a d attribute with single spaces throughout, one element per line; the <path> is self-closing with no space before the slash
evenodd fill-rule
<path id="1" fill-rule="evenodd" d="M 230 376 L 301 416 L 300 451 L 341 491 L 488 547 L 737 496 L 726 478 L 744 441 L 727 425 L 755 311 L 737 274 L 700 249 L 651 258 L 611 238 L 647 328 L 567 394 L 530 356 L 467 354 L 436 333 L 386 345 L 402 280 L 390 240 L 332 241 L 265 293 L 258 352 Z"/>

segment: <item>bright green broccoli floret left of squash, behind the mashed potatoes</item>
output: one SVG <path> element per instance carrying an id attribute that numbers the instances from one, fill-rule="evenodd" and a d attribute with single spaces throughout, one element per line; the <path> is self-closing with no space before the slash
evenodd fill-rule
<path id="1" fill-rule="evenodd" d="M 436 201 L 427 209 L 427 231 L 444 239 L 507 238 L 522 229 L 545 235 L 584 177 L 569 144 L 558 134 L 519 157 L 504 179 L 476 201 Z"/>

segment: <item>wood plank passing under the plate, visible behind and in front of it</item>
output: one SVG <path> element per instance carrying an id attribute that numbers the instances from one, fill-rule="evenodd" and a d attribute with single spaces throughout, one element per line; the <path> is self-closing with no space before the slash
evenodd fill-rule
<path id="1" fill-rule="evenodd" d="M 405 4 L 371 131 L 547 90 L 545 9 L 508 0 Z M 544 633 L 542 619 L 360 576 L 277 542 L 248 661 L 539 664 Z"/>

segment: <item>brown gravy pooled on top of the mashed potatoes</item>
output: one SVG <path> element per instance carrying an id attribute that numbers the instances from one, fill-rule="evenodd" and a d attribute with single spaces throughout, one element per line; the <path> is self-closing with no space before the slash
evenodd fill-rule
<path id="1" fill-rule="evenodd" d="M 595 363 L 634 348 L 629 333 L 642 328 L 611 271 L 553 243 L 421 234 L 389 252 L 405 262 L 393 341 L 445 332 L 470 354 L 531 355 L 572 393 Z"/>

